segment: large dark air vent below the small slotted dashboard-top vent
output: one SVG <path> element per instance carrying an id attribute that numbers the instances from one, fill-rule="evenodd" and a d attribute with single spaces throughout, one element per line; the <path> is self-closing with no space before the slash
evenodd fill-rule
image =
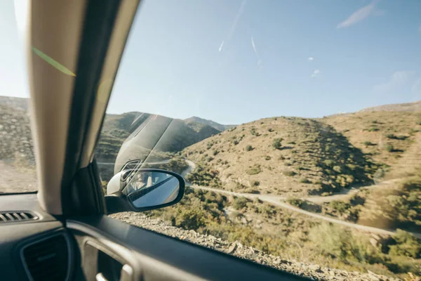
<path id="1" fill-rule="evenodd" d="M 34 242 L 22 251 L 30 280 L 66 280 L 69 270 L 69 249 L 64 235 Z"/>

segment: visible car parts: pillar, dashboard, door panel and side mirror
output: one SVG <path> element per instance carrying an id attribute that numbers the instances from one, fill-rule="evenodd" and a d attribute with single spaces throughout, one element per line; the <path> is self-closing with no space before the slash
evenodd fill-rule
<path id="1" fill-rule="evenodd" d="M 144 169 L 150 173 L 145 183 L 121 192 L 140 172 L 134 164 L 116 174 L 107 196 L 102 191 L 94 149 L 138 5 L 29 4 L 27 70 L 39 191 L 0 196 L 0 280 L 303 279 L 107 216 L 177 204 L 185 188 L 178 174 Z M 170 191 L 159 193 L 161 186 Z"/>

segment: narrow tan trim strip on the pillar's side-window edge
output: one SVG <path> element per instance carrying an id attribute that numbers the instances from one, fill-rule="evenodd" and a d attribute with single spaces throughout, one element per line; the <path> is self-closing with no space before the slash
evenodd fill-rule
<path id="1" fill-rule="evenodd" d="M 84 168 L 92 162 L 95 144 L 100 133 L 102 118 L 105 115 L 109 96 L 116 77 L 121 55 L 123 55 L 124 46 L 128 33 L 130 32 L 133 19 L 138 8 L 139 0 L 121 1 L 119 13 L 114 24 L 114 29 L 109 42 L 104 67 L 102 69 L 100 86 L 97 90 L 95 105 L 93 107 L 91 124 L 88 126 L 88 134 L 83 143 L 81 152 L 81 164 L 79 168 Z"/>

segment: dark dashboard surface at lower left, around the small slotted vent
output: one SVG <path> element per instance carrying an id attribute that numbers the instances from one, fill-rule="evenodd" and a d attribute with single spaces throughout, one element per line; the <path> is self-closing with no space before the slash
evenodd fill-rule
<path id="1" fill-rule="evenodd" d="M 25 280 L 25 270 L 19 259 L 20 244 L 49 232 L 60 231 L 63 224 L 39 207 L 36 193 L 1 195 L 0 212 L 32 211 L 39 219 L 0 223 L 1 280 Z"/>

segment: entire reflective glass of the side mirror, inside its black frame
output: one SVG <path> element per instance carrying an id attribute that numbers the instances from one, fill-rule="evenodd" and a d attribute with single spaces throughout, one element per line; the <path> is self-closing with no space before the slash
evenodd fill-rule
<path id="1" fill-rule="evenodd" d="M 123 190 L 136 208 L 173 202 L 179 192 L 180 181 L 165 171 L 138 171 Z"/>

